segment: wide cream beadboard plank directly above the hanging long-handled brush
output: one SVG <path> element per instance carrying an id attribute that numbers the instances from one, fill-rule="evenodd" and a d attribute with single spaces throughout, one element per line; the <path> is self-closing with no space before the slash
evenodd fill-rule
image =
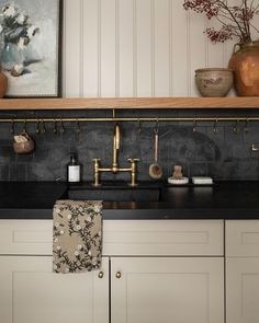
<path id="1" fill-rule="evenodd" d="M 155 96 L 169 96 L 169 1 L 155 1 L 154 85 Z"/>

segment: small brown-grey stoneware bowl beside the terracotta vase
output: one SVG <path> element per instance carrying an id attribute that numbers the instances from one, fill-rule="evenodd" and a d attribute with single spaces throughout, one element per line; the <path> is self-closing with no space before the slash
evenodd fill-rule
<path id="1" fill-rule="evenodd" d="M 227 68 L 195 70 L 195 84 L 202 96 L 223 97 L 233 86 L 234 72 Z"/>

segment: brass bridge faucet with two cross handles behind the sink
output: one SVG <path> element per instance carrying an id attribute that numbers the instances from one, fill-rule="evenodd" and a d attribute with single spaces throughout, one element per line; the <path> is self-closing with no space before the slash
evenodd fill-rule
<path id="1" fill-rule="evenodd" d="M 111 172 L 116 174 L 119 172 L 130 172 L 131 173 L 131 183 L 132 187 L 137 186 L 137 162 L 138 159 L 128 158 L 128 162 L 131 163 L 130 168 L 120 168 L 119 166 L 119 151 L 120 151 L 120 143 L 121 143 L 121 129 L 119 124 L 114 127 L 113 134 L 113 159 L 112 159 L 112 166 L 111 168 L 101 168 L 100 159 L 93 159 L 93 186 L 98 187 L 101 185 L 100 183 L 100 175 L 102 172 Z"/>

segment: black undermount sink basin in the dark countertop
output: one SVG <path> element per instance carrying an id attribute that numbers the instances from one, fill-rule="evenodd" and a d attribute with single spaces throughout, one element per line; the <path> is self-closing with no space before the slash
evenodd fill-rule
<path id="1" fill-rule="evenodd" d="M 161 188 L 140 186 L 70 187 L 67 198 L 103 201 L 159 201 Z"/>

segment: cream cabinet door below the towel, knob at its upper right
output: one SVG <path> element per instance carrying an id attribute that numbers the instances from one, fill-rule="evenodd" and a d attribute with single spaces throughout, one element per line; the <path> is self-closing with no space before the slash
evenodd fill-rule
<path id="1" fill-rule="evenodd" d="M 53 274 L 52 256 L 0 256 L 0 322 L 108 323 L 108 258 L 100 278 L 98 270 Z"/>

